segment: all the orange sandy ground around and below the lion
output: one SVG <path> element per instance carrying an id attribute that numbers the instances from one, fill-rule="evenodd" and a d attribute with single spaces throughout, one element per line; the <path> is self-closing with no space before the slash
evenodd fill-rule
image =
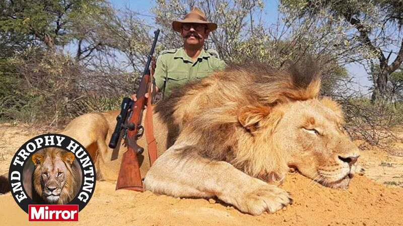
<path id="1" fill-rule="evenodd" d="M 0 125 L 0 174 L 7 172 L 19 146 L 41 132 L 24 126 Z M 357 175 L 348 190 L 325 188 L 298 173 L 289 173 L 281 187 L 291 193 L 294 204 L 275 214 L 251 216 L 214 199 L 115 191 L 113 183 L 101 181 L 80 212 L 79 222 L 74 224 L 403 225 L 403 152 L 399 152 L 403 144 L 393 145 L 393 155 L 378 148 L 363 150 L 363 175 Z M 27 224 L 27 214 L 10 193 L 0 195 L 0 206 L 0 224 Z"/>

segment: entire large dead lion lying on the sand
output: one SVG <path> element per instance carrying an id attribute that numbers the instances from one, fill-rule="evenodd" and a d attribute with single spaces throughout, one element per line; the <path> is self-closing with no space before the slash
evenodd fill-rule
<path id="1" fill-rule="evenodd" d="M 289 167 L 325 186 L 346 188 L 358 149 L 341 128 L 342 110 L 319 98 L 319 88 L 317 72 L 298 67 L 235 67 L 187 84 L 155 108 L 160 157 L 150 170 L 147 157 L 140 158 L 143 176 L 148 171 L 145 188 L 217 196 L 252 214 L 290 202 L 287 192 L 266 183 L 284 179 Z M 117 178 L 124 152 L 106 147 L 117 114 L 81 116 L 62 132 L 90 149 L 97 173 L 108 180 Z M 144 138 L 139 144 L 146 147 Z"/>

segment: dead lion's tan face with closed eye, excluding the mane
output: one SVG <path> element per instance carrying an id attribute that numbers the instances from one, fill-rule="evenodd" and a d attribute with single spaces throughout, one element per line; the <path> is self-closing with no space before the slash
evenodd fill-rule
<path id="1" fill-rule="evenodd" d="M 276 111 L 283 116 L 273 144 L 285 151 L 281 154 L 287 165 L 324 186 L 347 188 L 359 149 L 343 129 L 340 107 L 328 98 L 314 98 L 283 104 Z"/>

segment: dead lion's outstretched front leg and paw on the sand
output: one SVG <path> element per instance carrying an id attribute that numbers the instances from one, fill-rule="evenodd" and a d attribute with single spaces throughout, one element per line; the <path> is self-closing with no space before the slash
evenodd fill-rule
<path id="1" fill-rule="evenodd" d="M 146 190 L 175 197 L 214 197 L 254 215 L 275 212 L 292 199 L 283 189 L 248 176 L 224 161 L 203 158 L 194 146 L 174 145 L 147 173 Z"/>

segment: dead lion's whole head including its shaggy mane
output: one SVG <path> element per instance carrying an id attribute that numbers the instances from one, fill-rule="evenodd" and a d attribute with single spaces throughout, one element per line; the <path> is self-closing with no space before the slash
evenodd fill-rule
<path id="1" fill-rule="evenodd" d="M 318 67 L 231 67 L 192 82 L 156 108 L 178 141 L 265 181 L 290 167 L 324 186 L 347 188 L 359 150 L 343 129 L 343 111 L 319 97 Z M 173 125 L 174 126 L 173 126 Z"/>

